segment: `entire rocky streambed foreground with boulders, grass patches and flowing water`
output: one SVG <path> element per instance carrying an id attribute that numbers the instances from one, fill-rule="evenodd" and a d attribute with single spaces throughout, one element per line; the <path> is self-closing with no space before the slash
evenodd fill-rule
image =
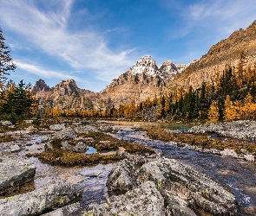
<path id="1" fill-rule="evenodd" d="M 3 215 L 256 212 L 256 168 L 244 159 L 153 140 L 130 126 L 89 124 L 81 119 L 39 130 L 28 126 L 2 131 L 1 136 Z M 98 151 L 96 162 L 85 154 L 88 147 Z M 17 173 L 24 173 L 24 178 Z"/>

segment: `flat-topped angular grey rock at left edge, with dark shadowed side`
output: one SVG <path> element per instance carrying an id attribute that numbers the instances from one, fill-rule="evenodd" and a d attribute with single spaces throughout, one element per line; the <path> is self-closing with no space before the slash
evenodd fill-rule
<path id="1" fill-rule="evenodd" d="M 35 173 L 36 166 L 30 160 L 18 159 L 15 161 L 1 162 L 0 194 L 19 187 L 25 182 L 33 181 Z"/>

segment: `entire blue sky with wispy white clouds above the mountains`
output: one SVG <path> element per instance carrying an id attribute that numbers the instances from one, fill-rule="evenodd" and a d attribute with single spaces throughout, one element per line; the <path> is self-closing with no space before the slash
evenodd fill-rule
<path id="1" fill-rule="evenodd" d="M 188 63 L 256 19 L 252 0 L 1 0 L 10 79 L 100 92 L 143 55 Z"/>

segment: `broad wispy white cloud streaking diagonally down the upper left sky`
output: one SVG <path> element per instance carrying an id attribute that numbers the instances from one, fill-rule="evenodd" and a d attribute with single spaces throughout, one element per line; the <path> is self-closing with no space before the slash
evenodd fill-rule
<path id="1" fill-rule="evenodd" d="M 93 71 L 99 79 L 110 81 L 134 64 L 135 57 L 134 60 L 128 58 L 134 49 L 110 49 L 104 35 L 107 33 L 92 29 L 70 32 L 68 23 L 74 2 L 47 1 L 48 5 L 44 6 L 48 10 L 41 10 L 35 1 L 2 0 L 0 20 L 6 28 L 25 38 L 31 47 L 68 63 L 74 70 Z"/>

